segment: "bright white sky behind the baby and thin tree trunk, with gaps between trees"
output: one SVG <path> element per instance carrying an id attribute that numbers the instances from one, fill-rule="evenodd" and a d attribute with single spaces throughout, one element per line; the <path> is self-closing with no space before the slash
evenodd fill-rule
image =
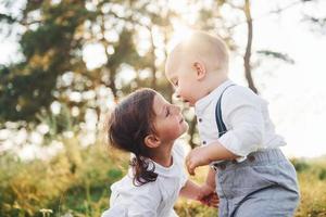
<path id="1" fill-rule="evenodd" d="M 288 5 L 293 0 L 278 2 Z M 262 62 L 253 78 L 260 94 L 269 102 L 276 131 L 287 141 L 285 153 L 291 157 L 326 155 L 326 33 L 312 31 L 301 21 L 303 12 L 326 14 L 326 2 L 317 8 L 291 7 L 281 15 L 268 14 L 273 7 L 275 1 L 252 1 L 253 48 L 287 53 L 294 64 Z M 246 24 L 236 28 L 235 40 L 244 46 Z M 183 37 L 185 29 L 179 30 Z M 175 40 L 177 37 L 176 33 Z M 18 48 L 14 39 L 1 40 L 0 48 L 0 64 L 14 60 Z M 97 65 L 91 60 L 88 64 Z M 246 86 L 242 62 L 234 55 L 230 78 Z"/>

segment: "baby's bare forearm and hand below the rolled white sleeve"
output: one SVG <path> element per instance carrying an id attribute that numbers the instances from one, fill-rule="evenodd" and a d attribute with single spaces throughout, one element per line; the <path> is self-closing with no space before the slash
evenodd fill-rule
<path id="1" fill-rule="evenodd" d="M 239 156 L 225 149 L 218 141 L 209 145 L 199 146 L 190 151 L 186 158 L 186 166 L 190 175 L 195 175 L 198 166 L 209 165 L 221 159 L 235 159 Z"/>

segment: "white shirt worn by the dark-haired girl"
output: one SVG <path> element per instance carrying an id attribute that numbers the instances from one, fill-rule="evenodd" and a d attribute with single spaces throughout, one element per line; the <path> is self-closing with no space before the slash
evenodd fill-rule
<path id="1" fill-rule="evenodd" d="M 163 167 L 156 163 L 158 178 L 140 187 L 133 184 L 131 171 L 111 187 L 110 209 L 102 217 L 177 217 L 173 206 L 186 184 L 185 154 L 181 144 L 174 144 L 173 164 Z"/>

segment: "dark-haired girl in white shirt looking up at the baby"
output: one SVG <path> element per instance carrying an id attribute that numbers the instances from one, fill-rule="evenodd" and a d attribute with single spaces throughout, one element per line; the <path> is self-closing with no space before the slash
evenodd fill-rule
<path id="1" fill-rule="evenodd" d="M 177 216 L 173 209 L 178 195 L 216 205 L 216 194 L 187 179 L 183 148 L 175 140 L 188 125 L 179 107 L 152 89 L 129 94 L 109 120 L 109 141 L 131 152 L 131 168 L 112 184 L 110 209 L 102 217 Z M 215 195 L 215 196 L 214 196 Z"/>

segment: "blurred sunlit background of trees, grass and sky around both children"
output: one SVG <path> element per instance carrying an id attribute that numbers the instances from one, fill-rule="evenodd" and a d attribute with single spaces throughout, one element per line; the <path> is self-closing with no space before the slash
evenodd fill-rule
<path id="1" fill-rule="evenodd" d="M 269 102 L 300 179 L 296 216 L 326 216 L 323 0 L 0 0 L 0 216 L 100 216 L 128 166 L 106 148 L 106 115 L 139 87 L 174 101 L 164 63 L 191 29 L 221 35 L 230 78 Z"/>

